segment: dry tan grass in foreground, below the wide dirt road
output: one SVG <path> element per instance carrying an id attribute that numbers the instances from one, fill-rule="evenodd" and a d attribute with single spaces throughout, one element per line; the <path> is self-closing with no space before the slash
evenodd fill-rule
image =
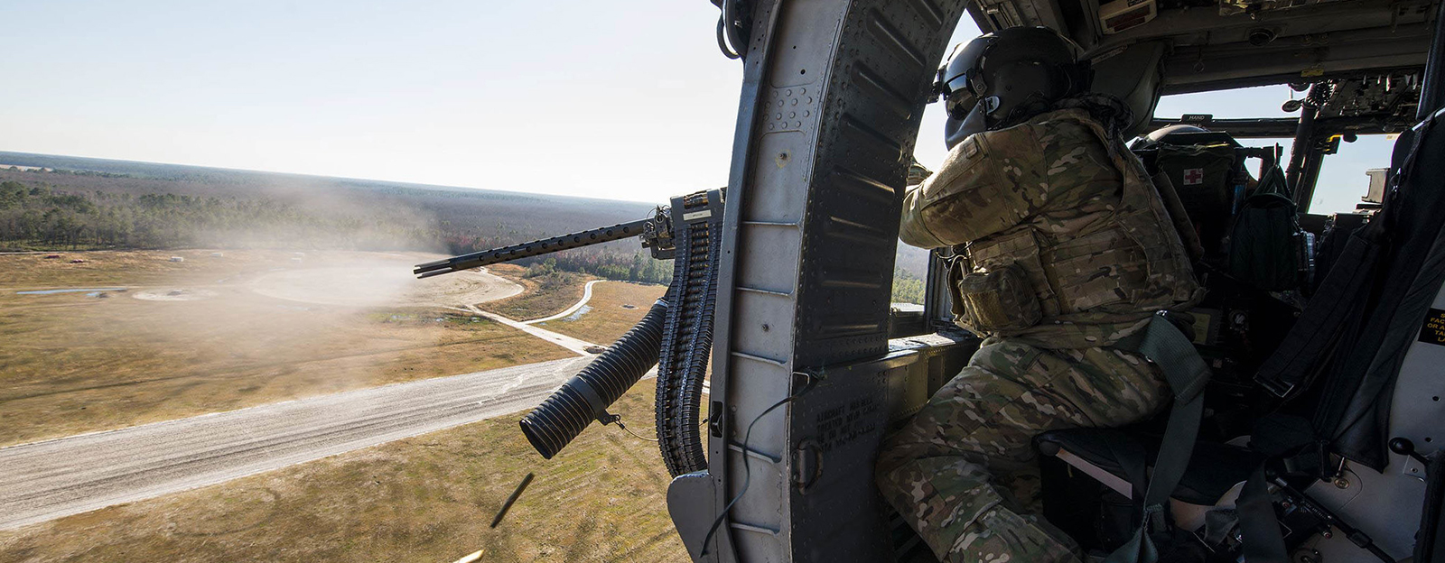
<path id="1" fill-rule="evenodd" d="M 650 420 L 650 385 L 614 411 Z M 688 560 L 655 443 L 594 424 L 543 461 L 519 417 L 0 531 L 0 560 L 447 563 L 480 549 L 487 563 Z M 527 472 L 536 479 L 488 528 Z"/>

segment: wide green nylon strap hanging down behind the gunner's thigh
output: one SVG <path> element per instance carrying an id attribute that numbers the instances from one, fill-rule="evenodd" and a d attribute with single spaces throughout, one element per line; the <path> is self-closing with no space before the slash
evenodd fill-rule
<path id="1" fill-rule="evenodd" d="M 1149 531 L 1162 528 L 1169 495 L 1179 486 L 1179 479 L 1189 468 L 1194 440 L 1199 435 L 1199 419 L 1204 416 L 1204 385 L 1209 381 L 1209 367 L 1194 349 L 1194 342 L 1168 319 L 1156 315 L 1140 332 L 1140 338 L 1120 341 L 1116 346 L 1139 352 L 1159 365 L 1173 391 L 1175 404 L 1165 426 L 1163 445 L 1155 459 L 1155 473 L 1144 492 L 1139 527 L 1124 546 L 1104 559 L 1105 563 L 1159 560 L 1159 549 L 1149 538 Z"/>

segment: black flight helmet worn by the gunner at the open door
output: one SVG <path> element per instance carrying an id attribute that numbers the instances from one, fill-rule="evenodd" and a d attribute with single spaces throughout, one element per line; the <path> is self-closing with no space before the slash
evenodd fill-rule
<path id="1" fill-rule="evenodd" d="M 933 90 L 948 108 L 949 147 L 970 134 L 1012 127 L 1088 90 L 1079 48 L 1049 27 L 1009 27 L 954 46 Z"/>

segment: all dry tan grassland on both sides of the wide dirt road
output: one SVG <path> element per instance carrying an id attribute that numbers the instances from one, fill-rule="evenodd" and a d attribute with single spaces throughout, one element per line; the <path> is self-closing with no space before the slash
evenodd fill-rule
<path id="1" fill-rule="evenodd" d="M 340 306 L 280 299 L 298 296 L 257 282 L 376 258 L 361 253 L 82 257 L 0 256 L 0 445 L 569 355 L 428 305 L 471 296 L 471 286 L 412 294 L 406 306 Z M 582 293 L 579 283 L 529 284 L 512 266 L 493 271 L 526 292 L 483 307 L 519 319 L 556 313 Z M 126 290 L 16 293 L 66 287 Z M 316 300 L 379 294 L 322 290 Z M 592 309 L 546 328 L 608 344 L 663 290 L 603 282 Z M 613 409 L 644 436 L 649 383 Z M 594 426 L 543 461 L 517 429 L 522 414 L 0 531 L 0 562 L 452 562 L 480 549 L 481 562 L 686 560 L 655 443 Z M 536 479 L 490 528 L 527 472 Z"/>

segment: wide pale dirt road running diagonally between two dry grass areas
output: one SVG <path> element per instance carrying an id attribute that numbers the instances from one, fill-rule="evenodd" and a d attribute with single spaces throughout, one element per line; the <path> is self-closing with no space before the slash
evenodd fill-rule
<path id="1" fill-rule="evenodd" d="M 0 448 L 0 530 L 514 413 L 591 358 L 555 359 Z"/>

